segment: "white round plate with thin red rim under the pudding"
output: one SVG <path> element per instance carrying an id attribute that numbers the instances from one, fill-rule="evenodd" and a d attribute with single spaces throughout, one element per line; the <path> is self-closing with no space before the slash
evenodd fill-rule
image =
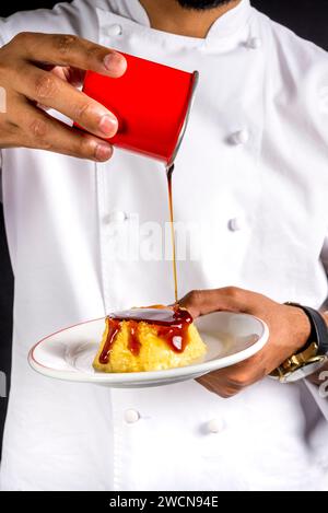
<path id="1" fill-rule="evenodd" d="M 208 347 L 206 358 L 192 365 L 167 371 L 105 374 L 92 366 L 105 319 L 91 320 L 40 340 L 28 354 L 31 366 L 45 376 L 116 388 L 160 386 L 194 380 L 260 351 L 268 341 L 267 325 L 251 315 L 216 312 L 196 319 Z"/>

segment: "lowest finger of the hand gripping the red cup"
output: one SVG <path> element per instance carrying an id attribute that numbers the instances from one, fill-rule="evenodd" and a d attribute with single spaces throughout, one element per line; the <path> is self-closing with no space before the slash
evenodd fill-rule
<path id="1" fill-rule="evenodd" d="M 110 159 L 113 148 L 106 141 L 70 128 L 49 116 L 25 98 L 16 100 L 14 118 L 10 125 L 13 141 L 10 145 L 52 151 L 66 155 L 104 162 Z"/>

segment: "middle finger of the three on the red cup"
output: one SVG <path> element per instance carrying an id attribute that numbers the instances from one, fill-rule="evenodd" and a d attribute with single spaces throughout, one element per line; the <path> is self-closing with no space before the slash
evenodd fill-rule
<path id="1" fill-rule="evenodd" d="M 23 65 L 20 75 L 13 75 L 13 86 L 27 98 L 55 108 L 95 136 L 110 138 L 117 132 L 114 114 L 49 71 Z"/>

